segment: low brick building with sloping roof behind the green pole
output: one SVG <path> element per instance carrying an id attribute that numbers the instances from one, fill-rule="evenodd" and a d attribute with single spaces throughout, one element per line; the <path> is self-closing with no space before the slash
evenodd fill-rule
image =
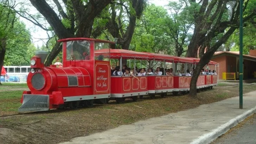
<path id="1" fill-rule="evenodd" d="M 219 72 L 219 80 L 223 79 L 223 72 L 239 72 L 239 52 L 216 52 L 211 60 L 219 63 L 219 67 L 216 70 L 216 72 Z M 243 79 L 254 78 L 254 72 L 256 72 L 256 50 L 250 50 L 249 55 L 243 54 L 243 64 Z"/>

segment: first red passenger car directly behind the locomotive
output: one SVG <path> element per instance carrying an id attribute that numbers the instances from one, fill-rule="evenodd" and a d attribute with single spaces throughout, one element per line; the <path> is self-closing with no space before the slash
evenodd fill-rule
<path id="1" fill-rule="evenodd" d="M 106 53 L 105 50 L 96 51 L 96 55 Z M 123 59 L 147 60 L 148 55 L 141 52 L 128 50 L 110 49 L 110 58 L 119 59 L 122 64 Z M 148 93 L 147 76 L 111 76 L 111 98 L 117 103 L 121 103 L 127 97 L 137 100 L 138 96 L 143 96 Z"/>

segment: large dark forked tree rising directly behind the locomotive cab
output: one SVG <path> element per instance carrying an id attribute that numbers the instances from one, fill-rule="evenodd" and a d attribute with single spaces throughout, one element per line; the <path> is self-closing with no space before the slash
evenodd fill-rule
<path id="1" fill-rule="evenodd" d="M 26 1 L 11 6 L 11 8 L 21 17 L 26 18 L 43 30 L 53 31 L 54 33 L 49 36 L 50 38 L 56 36 L 59 39 L 90 38 L 94 33 L 92 26 L 95 18 L 111 1 L 113 0 L 30 0 L 40 14 L 31 14 L 28 8 L 30 4 L 27 4 Z M 17 5 L 20 5 L 21 8 L 16 8 Z M 44 22 L 39 19 L 47 21 L 50 27 L 44 25 Z M 60 42 L 56 42 L 45 64 L 51 64 L 61 50 L 62 45 Z"/>

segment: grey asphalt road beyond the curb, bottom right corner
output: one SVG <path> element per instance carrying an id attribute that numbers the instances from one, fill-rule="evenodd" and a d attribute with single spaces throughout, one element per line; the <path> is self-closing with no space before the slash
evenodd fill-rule
<path id="1" fill-rule="evenodd" d="M 218 138 L 212 144 L 256 144 L 256 114 L 236 130 Z"/>

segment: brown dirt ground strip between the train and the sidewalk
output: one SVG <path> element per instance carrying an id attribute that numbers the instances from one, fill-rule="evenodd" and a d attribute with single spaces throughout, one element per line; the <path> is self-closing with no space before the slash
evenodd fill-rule
<path id="1" fill-rule="evenodd" d="M 243 88 L 243 92 L 246 93 L 256 90 L 256 85 L 244 85 Z M 160 98 L 160 96 L 155 99 L 145 97 L 138 99 L 138 102 L 126 100 L 124 104 L 113 102 L 107 105 L 94 105 L 92 108 L 77 110 L 57 110 L 0 117 L 0 143 L 54 144 L 64 142 L 74 137 L 87 136 L 120 125 L 134 123 L 138 120 L 162 116 L 167 113 L 198 107 L 201 104 L 235 97 L 239 95 L 238 90 L 238 84 L 217 86 L 213 87 L 212 90 L 199 92 L 197 98 L 187 95 L 172 96 L 170 94 L 165 98 Z M 19 102 L 20 96 L 14 97 L 11 101 Z M 0 100 L 0 108 L 1 104 L 10 102 L 4 96 L 2 98 L 0 96 Z M 19 105 L 12 107 L 15 111 L 1 108 L 0 114 L 16 113 Z"/>

